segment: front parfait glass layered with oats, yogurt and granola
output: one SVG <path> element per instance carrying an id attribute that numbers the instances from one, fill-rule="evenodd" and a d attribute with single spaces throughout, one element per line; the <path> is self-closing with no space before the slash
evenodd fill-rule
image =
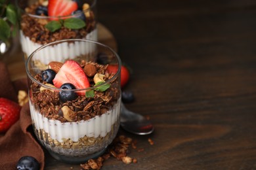
<path id="1" fill-rule="evenodd" d="M 55 63 L 58 61 L 66 65 L 72 61 L 79 63 L 83 70 L 85 65 L 95 65 L 96 74 L 87 76 L 91 84 L 89 88 L 56 88 L 42 80 L 41 73 L 50 65 L 51 69 L 55 67 L 45 63 L 44 56 L 41 54 L 48 52 L 49 48 L 55 50 L 54 46 L 61 46 L 64 43 L 74 46 L 75 43 L 81 42 L 85 46 L 77 49 L 78 51 L 74 48 L 66 48 L 65 52 L 60 54 L 53 53 L 53 56 L 51 53 L 47 54 Z M 76 57 L 74 53 L 77 54 Z M 62 56 L 64 54 L 65 57 Z M 96 63 L 99 57 L 104 58 L 104 63 Z M 117 66 L 116 73 L 110 74 L 106 71 L 106 67 L 110 64 Z M 57 75 L 62 71 L 62 67 Z M 71 72 L 70 75 L 74 76 L 75 71 Z M 95 82 L 98 72 L 106 77 L 100 84 Z M 56 160 L 66 163 L 84 163 L 103 154 L 108 144 L 112 143 L 119 129 L 120 72 L 121 60 L 116 52 L 104 44 L 85 39 L 51 42 L 41 46 L 28 57 L 26 73 L 33 130 L 39 142 Z M 106 90 L 100 90 L 102 87 Z M 87 92 L 93 92 L 94 95 L 88 97 Z M 73 93 L 76 97 L 65 101 L 60 93 Z"/>

